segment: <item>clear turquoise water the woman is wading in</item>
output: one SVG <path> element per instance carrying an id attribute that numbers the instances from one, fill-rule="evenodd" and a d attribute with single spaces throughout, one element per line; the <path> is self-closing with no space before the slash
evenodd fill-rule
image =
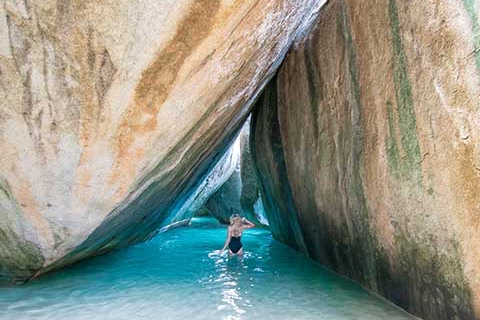
<path id="1" fill-rule="evenodd" d="M 412 319 L 305 259 L 265 230 L 243 236 L 243 260 L 212 252 L 214 220 L 160 234 L 26 285 L 0 288 L 0 319 Z"/>

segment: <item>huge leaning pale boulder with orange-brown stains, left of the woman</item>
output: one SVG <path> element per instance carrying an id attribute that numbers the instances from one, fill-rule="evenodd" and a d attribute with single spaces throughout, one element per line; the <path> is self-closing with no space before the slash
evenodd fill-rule
<path id="1" fill-rule="evenodd" d="M 151 237 L 322 4 L 2 0 L 0 281 Z"/>

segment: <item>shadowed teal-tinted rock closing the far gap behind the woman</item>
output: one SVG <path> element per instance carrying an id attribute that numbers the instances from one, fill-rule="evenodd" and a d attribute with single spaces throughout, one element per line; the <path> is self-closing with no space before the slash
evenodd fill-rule
<path id="1" fill-rule="evenodd" d="M 262 199 L 257 183 L 252 155 L 250 154 L 250 121 L 238 137 L 240 157 L 229 179 L 205 203 L 205 209 L 223 223 L 230 215 L 240 213 L 258 226 L 267 223 L 263 216 Z"/>

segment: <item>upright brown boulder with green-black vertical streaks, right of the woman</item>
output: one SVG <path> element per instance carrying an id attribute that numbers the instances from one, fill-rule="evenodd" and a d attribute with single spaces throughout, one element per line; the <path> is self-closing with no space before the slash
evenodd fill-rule
<path id="1" fill-rule="evenodd" d="M 480 319 L 479 15 L 330 1 L 253 118 L 274 234 L 425 319 Z"/>

